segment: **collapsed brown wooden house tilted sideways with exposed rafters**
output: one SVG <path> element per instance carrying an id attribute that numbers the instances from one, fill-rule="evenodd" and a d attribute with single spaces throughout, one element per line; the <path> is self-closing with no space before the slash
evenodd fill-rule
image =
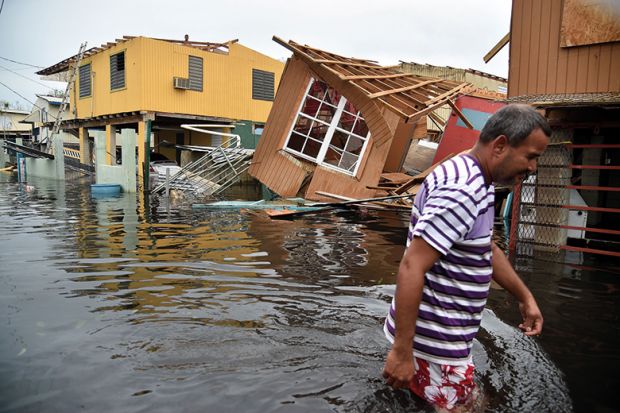
<path id="1" fill-rule="evenodd" d="M 400 171 L 416 127 L 425 132 L 425 115 L 468 85 L 274 40 L 293 56 L 249 172 L 283 197 L 375 196 L 382 172 Z"/>

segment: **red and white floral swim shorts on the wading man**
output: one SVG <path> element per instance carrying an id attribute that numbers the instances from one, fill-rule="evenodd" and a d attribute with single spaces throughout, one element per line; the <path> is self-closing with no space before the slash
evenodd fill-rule
<path id="1" fill-rule="evenodd" d="M 450 410 L 473 398 L 476 389 L 473 364 L 450 366 L 415 357 L 413 364 L 415 375 L 409 388 L 429 403 Z"/>

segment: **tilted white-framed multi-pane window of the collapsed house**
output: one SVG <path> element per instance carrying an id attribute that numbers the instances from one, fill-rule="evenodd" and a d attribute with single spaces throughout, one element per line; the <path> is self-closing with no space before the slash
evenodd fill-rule
<path id="1" fill-rule="evenodd" d="M 361 112 L 336 89 L 311 79 L 284 150 L 355 176 L 369 139 Z"/>

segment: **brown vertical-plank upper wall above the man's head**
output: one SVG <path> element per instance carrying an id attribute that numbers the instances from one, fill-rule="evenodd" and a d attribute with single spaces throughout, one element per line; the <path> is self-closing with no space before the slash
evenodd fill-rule
<path id="1" fill-rule="evenodd" d="M 620 42 L 560 47 L 562 5 L 513 0 L 510 97 L 620 91 Z"/>

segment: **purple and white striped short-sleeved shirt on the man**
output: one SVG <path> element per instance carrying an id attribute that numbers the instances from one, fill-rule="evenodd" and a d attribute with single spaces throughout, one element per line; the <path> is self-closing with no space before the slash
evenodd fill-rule
<path id="1" fill-rule="evenodd" d="M 426 273 L 416 321 L 415 357 L 439 364 L 471 363 L 493 269 L 491 235 L 495 191 L 486 185 L 478 161 L 463 154 L 428 175 L 411 211 L 407 247 L 422 237 L 441 253 Z M 385 320 L 395 334 L 395 300 Z"/>

